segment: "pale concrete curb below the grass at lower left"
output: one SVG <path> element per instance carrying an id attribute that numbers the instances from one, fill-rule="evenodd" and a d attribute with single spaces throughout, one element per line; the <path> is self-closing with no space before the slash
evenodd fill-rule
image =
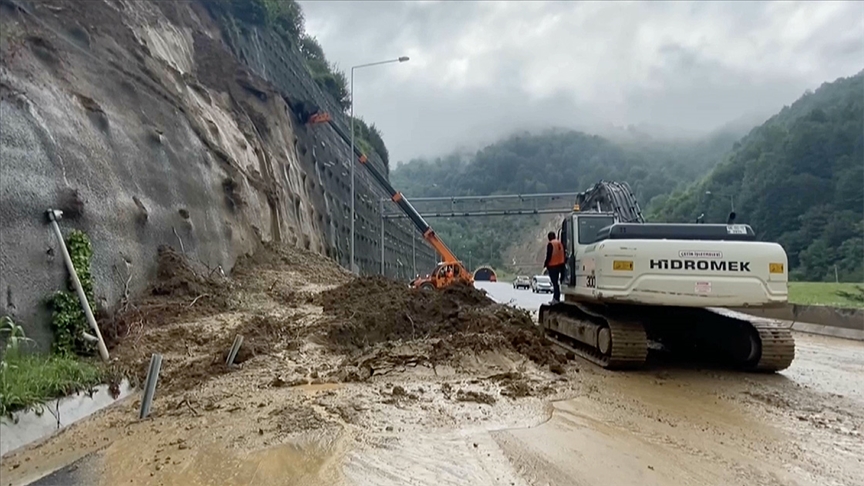
<path id="1" fill-rule="evenodd" d="M 12 419 L 0 421 L 0 456 L 33 442 L 46 439 L 73 423 L 89 417 L 95 412 L 126 398 L 133 388 L 129 382 L 120 383 L 120 394 L 111 396 L 108 385 L 95 388 L 93 394 L 80 392 L 75 395 L 51 400 L 40 410 L 17 412 Z"/>

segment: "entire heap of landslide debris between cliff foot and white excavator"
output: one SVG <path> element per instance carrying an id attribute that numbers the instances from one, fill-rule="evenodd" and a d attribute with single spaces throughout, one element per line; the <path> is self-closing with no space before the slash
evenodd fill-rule
<path id="1" fill-rule="evenodd" d="M 550 369 L 566 363 L 527 312 L 473 286 L 430 292 L 354 278 L 321 255 L 267 244 L 238 259 L 230 278 L 162 247 L 148 290 L 100 324 L 116 371 L 133 381 L 146 376 L 153 353 L 163 355 L 159 386 L 167 394 L 231 373 L 225 359 L 238 335 L 244 341 L 234 363 L 267 375 L 273 387 L 365 381 L 426 364 L 461 369 L 464 358 L 487 351 L 518 353 Z M 514 398 L 533 393 L 523 377 L 483 381 Z M 394 391 L 391 398 L 404 397 Z"/>

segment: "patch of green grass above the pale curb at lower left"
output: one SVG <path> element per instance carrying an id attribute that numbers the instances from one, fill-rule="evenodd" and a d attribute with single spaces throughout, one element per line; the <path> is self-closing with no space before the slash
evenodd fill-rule
<path id="1" fill-rule="evenodd" d="M 98 385 L 102 369 L 66 355 L 24 352 L 30 340 L 9 317 L 0 319 L 6 346 L 0 361 L 0 415 L 28 410 L 47 400 Z"/>

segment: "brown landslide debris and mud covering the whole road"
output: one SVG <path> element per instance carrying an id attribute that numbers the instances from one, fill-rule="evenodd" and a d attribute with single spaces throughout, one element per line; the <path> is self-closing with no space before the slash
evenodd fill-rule
<path id="1" fill-rule="evenodd" d="M 121 402 L 4 457 L 4 485 L 79 459 L 44 484 L 864 485 L 864 395 L 823 385 L 861 376 L 861 343 L 798 336 L 777 375 L 613 373 L 471 287 L 413 291 L 271 245 L 230 278 L 159 258 L 151 291 L 103 321 L 118 369 L 162 353 L 151 417 Z"/>

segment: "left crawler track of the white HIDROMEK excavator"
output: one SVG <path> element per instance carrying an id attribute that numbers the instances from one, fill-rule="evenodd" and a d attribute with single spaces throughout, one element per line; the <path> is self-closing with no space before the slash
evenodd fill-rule
<path id="1" fill-rule="evenodd" d="M 559 318 L 576 326 L 600 327 L 599 340 L 606 352 L 568 336 L 556 326 Z M 648 357 L 648 338 L 639 322 L 609 319 L 576 304 L 555 304 L 540 307 L 540 324 L 546 339 L 606 369 L 639 368 Z"/>

